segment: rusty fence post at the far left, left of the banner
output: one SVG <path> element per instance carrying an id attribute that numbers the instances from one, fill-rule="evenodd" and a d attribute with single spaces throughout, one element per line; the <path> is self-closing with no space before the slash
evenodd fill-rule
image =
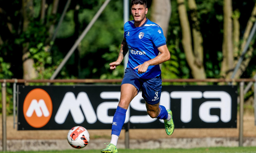
<path id="1" fill-rule="evenodd" d="M 2 83 L 2 145 L 3 145 L 3 152 L 6 151 L 6 82 Z"/>

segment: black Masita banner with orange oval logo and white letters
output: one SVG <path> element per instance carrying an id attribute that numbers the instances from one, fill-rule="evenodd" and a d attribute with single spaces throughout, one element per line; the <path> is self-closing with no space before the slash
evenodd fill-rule
<path id="1" fill-rule="evenodd" d="M 111 129 L 120 99 L 120 85 L 19 85 L 17 90 L 18 130 Z M 160 105 L 172 110 L 175 128 L 237 127 L 237 86 L 162 86 Z M 123 128 L 157 129 L 164 123 L 147 115 L 139 92 Z"/>

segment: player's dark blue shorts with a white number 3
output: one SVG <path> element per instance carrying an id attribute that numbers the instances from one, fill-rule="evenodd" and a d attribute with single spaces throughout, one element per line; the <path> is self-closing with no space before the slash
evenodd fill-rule
<path id="1" fill-rule="evenodd" d="M 162 78 L 161 75 L 150 78 L 142 79 L 133 72 L 131 68 L 126 68 L 123 81 L 121 85 L 129 83 L 136 87 L 138 93 L 142 90 L 142 97 L 150 105 L 155 105 L 160 102 L 161 90 L 162 90 Z"/>

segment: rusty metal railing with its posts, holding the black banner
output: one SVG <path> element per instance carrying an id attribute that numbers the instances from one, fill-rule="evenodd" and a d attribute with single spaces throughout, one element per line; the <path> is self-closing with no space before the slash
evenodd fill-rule
<path id="1" fill-rule="evenodd" d="M 14 106 L 16 105 L 16 84 L 17 83 L 121 83 L 122 79 L 54 79 L 54 80 L 25 80 L 25 79 L 0 79 L 2 87 L 2 144 L 3 151 L 7 151 L 7 128 L 6 128 L 6 83 L 13 83 L 13 100 Z M 239 111 L 239 146 L 243 144 L 243 105 L 244 105 L 244 86 L 245 82 L 254 82 L 254 115 L 255 115 L 255 125 L 256 125 L 256 79 L 163 79 L 162 82 L 214 82 L 214 83 L 239 83 L 240 86 L 240 111 Z M 14 121 L 15 112 L 14 110 Z M 125 148 L 129 148 L 129 131 L 125 132 Z"/>

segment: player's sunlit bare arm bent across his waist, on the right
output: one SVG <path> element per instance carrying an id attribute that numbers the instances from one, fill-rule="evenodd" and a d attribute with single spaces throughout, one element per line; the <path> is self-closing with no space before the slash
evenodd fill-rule
<path id="1" fill-rule="evenodd" d="M 145 73 L 147 71 L 148 66 L 152 66 L 152 65 L 158 65 L 161 64 L 163 62 L 166 62 L 167 60 L 170 60 L 170 52 L 167 48 L 166 45 L 163 45 L 161 47 L 157 48 L 159 50 L 159 52 L 161 54 L 157 55 L 155 58 L 148 60 L 146 62 L 144 62 L 143 64 L 140 64 L 138 66 L 136 66 L 133 69 L 137 69 L 138 68 L 138 73 L 142 74 Z"/>

